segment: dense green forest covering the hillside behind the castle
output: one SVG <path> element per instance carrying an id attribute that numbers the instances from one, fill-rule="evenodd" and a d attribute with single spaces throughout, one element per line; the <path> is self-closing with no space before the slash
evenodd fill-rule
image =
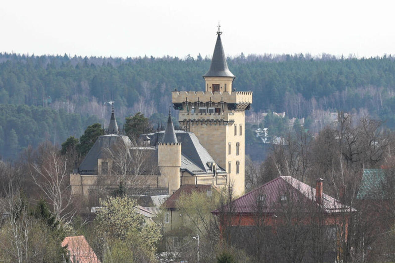
<path id="1" fill-rule="evenodd" d="M 328 54 L 228 58 L 237 90 L 253 91 L 250 114 L 286 112 L 317 122 L 345 111 L 395 127 L 392 56 L 337 58 Z M 171 104 L 171 91 L 203 90 L 210 59 L 102 58 L 0 53 L 0 155 L 14 158 L 28 145 L 77 138 L 88 125 L 105 127 L 115 101 L 117 119 L 142 112 L 154 123 Z M 175 113 L 175 112 L 174 112 Z M 309 128 L 309 127 L 307 127 Z"/>

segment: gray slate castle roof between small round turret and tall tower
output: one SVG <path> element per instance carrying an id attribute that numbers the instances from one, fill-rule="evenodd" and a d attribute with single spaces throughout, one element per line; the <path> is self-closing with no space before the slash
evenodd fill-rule
<path id="1" fill-rule="evenodd" d="M 142 137 L 150 138 L 150 145 L 155 146 L 158 142 L 162 142 L 164 136 L 163 131 L 150 134 L 141 134 Z M 200 144 L 198 137 L 193 132 L 175 131 L 177 142 L 181 142 L 181 169 L 189 173 L 204 174 L 212 173 L 210 164 L 215 162 L 213 157 Z M 223 168 L 216 165 L 217 173 L 226 173 Z"/>

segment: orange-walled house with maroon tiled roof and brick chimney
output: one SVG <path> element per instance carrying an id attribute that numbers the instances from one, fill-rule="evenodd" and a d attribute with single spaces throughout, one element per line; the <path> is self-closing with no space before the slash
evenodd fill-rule
<path id="1" fill-rule="evenodd" d="M 280 254 L 288 248 L 298 246 L 302 251 L 303 244 L 308 250 L 307 244 L 324 243 L 325 239 L 324 261 L 334 262 L 335 247 L 347 236 L 345 212 L 350 207 L 323 193 L 322 181 L 318 179 L 313 188 L 293 177 L 280 176 L 212 213 L 218 216 L 222 235 L 251 253 L 255 253 L 252 248 L 256 244 L 267 246 L 269 261 L 286 261 Z M 302 257 L 310 261 L 308 253 Z"/>

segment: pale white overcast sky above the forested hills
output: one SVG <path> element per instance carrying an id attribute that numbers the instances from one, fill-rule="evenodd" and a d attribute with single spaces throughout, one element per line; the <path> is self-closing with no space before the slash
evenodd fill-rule
<path id="1" fill-rule="evenodd" d="M 395 1 L 3 0 L 0 52 L 211 57 L 395 54 Z"/>

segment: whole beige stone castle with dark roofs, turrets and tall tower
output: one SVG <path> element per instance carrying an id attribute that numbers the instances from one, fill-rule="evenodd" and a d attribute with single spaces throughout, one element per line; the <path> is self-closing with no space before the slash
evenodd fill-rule
<path id="1" fill-rule="evenodd" d="M 129 156 L 146 153 L 145 163 L 153 166 L 139 173 L 135 168 L 124 169 L 133 174 L 128 178 L 134 178 L 125 181 L 126 186 L 139 182 L 171 194 L 186 184 L 232 185 L 235 194 L 244 193 L 245 110 L 252 104 L 252 92 L 233 88 L 235 76 L 229 71 L 221 34 L 218 30 L 211 66 L 203 75 L 205 91 L 172 92 L 183 131 L 175 131 L 169 112 L 165 131 L 142 134 L 143 147 L 132 145 L 127 136 L 119 134 L 113 111 L 108 134 L 100 136 L 70 175 L 73 194 L 88 196 L 99 187 L 100 178 L 107 189 L 117 186 L 107 179 L 122 170 L 115 169 L 115 159 L 109 157 L 108 149 L 114 146 L 126 147 Z"/>

